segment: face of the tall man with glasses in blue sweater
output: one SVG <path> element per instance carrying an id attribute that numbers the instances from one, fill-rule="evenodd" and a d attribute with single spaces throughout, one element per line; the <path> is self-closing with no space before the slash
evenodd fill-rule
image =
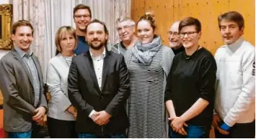
<path id="1" fill-rule="evenodd" d="M 89 21 L 91 21 L 91 17 L 88 9 L 78 9 L 75 12 L 74 22 L 76 24 L 76 29 L 84 31 Z"/>

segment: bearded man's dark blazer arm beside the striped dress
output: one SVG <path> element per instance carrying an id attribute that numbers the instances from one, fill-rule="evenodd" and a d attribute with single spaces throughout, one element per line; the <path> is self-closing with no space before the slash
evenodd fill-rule
<path id="1" fill-rule="evenodd" d="M 120 59 L 119 64 L 119 88 L 118 93 L 112 99 L 109 105 L 107 105 L 105 111 L 110 115 L 118 115 L 120 107 L 125 105 L 126 100 L 130 94 L 130 79 L 128 75 L 128 69 L 125 64 L 124 57 Z"/>

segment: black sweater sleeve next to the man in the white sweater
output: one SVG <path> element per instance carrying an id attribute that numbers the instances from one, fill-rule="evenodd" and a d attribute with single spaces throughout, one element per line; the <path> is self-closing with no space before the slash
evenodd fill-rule
<path id="1" fill-rule="evenodd" d="M 200 98 L 213 102 L 215 96 L 216 62 L 213 57 L 203 59 L 200 67 Z"/>

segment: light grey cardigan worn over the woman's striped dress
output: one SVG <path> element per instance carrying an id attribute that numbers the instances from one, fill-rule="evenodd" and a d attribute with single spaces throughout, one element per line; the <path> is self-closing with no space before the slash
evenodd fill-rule
<path id="1" fill-rule="evenodd" d="M 166 84 L 167 84 L 167 76 L 169 75 L 169 71 L 171 69 L 171 66 L 172 66 L 172 59 L 175 57 L 175 53 L 172 51 L 171 48 L 167 47 L 167 46 L 162 46 L 163 49 L 162 49 L 162 54 L 163 54 L 163 57 L 162 57 L 162 68 L 164 70 L 164 90 L 165 90 L 165 87 L 166 87 Z M 125 57 L 125 63 L 127 65 L 127 67 L 129 66 L 130 64 L 130 59 L 131 59 L 131 51 L 132 51 L 133 48 L 131 49 L 128 49 L 125 54 L 124 54 L 124 57 Z M 164 92 L 163 92 L 163 101 L 164 101 Z M 169 125 L 168 125 L 168 112 L 167 110 L 165 109 L 165 105 L 163 105 L 163 110 L 162 110 L 162 118 L 163 120 L 165 121 L 164 123 L 164 137 L 163 138 L 169 138 Z"/>

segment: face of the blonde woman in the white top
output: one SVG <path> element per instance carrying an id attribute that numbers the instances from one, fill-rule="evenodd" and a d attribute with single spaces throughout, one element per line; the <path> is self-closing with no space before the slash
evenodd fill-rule
<path id="1" fill-rule="evenodd" d="M 76 47 L 76 39 L 68 32 L 64 33 L 61 37 L 61 52 L 73 52 Z"/>

